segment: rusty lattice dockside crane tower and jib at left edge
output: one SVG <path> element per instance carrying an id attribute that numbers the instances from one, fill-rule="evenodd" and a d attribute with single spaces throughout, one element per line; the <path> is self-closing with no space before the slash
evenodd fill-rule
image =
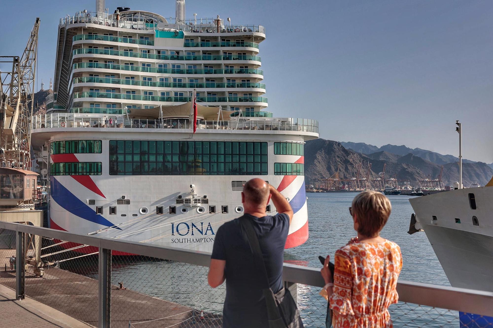
<path id="1" fill-rule="evenodd" d="M 0 166 L 28 169 L 31 165 L 30 119 L 34 109 L 39 17 L 22 57 L 0 56 L 11 65 L 0 71 Z"/>

